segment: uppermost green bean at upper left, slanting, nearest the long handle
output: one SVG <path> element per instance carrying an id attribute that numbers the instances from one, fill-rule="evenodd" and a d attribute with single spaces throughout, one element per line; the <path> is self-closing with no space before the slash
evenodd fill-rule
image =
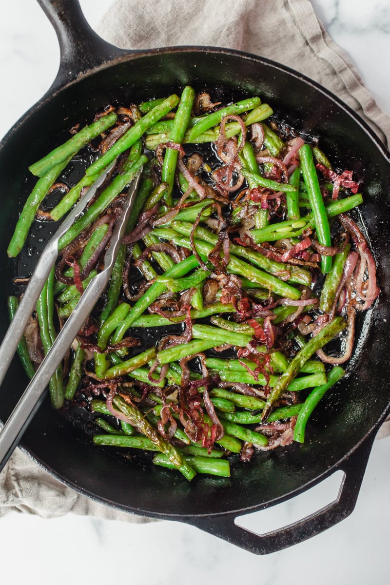
<path id="1" fill-rule="evenodd" d="M 29 170 L 33 175 L 36 175 L 37 177 L 43 177 L 44 174 L 49 172 L 53 167 L 63 163 L 64 160 L 73 157 L 83 146 L 88 144 L 88 142 L 91 142 L 91 140 L 96 138 L 96 136 L 99 136 L 99 134 L 113 126 L 116 122 L 116 119 L 117 116 L 113 112 L 102 116 L 102 118 L 99 118 L 90 126 L 85 126 L 85 128 L 80 130 L 80 132 L 77 132 L 74 136 L 67 140 L 67 142 L 52 150 L 49 154 L 44 156 L 43 159 L 40 159 L 36 163 L 32 164 L 29 167 Z"/>

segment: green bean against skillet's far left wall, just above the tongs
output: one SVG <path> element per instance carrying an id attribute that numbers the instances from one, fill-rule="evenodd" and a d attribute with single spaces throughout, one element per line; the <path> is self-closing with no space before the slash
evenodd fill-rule
<path id="1" fill-rule="evenodd" d="M 61 171 L 63 171 L 65 166 L 67 166 L 69 161 L 70 159 L 67 159 L 63 163 L 57 164 L 55 167 L 51 168 L 44 177 L 41 177 L 37 181 L 29 197 L 27 197 L 7 249 L 7 254 L 10 258 L 18 256 L 20 250 L 22 250 L 39 205 L 42 203 L 44 197 L 46 197 L 49 192 L 51 185 L 53 185 L 54 181 Z"/>

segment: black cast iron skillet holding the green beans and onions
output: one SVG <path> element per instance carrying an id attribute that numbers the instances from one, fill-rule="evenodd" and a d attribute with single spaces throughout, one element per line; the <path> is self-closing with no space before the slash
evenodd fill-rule
<path id="1" fill-rule="evenodd" d="M 49 402 L 23 437 L 23 448 L 75 490 L 107 505 L 147 517 L 188 522 L 255 553 L 269 553 L 318 534 L 353 510 L 372 441 L 390 407 L 389 335 L 390 158 L 383 144 L 339 99 L 303 75 L 247 53 L 215 47 L 122 51 L 90 29 L 77 0 L 39 0 L 61 46 L 53 87 L 10 130 L 0 147 L 0 326 L 4 335 L 14 266 L 6 247 L 32 183 L 26 169 L 68 137 L 75 123 L 91 120 L 113 99 L 140 102 L 180 91 L 208 88 L 227 101 L 260 95 L 282 119 L 321 137 L 323 150 L 364 178 L 363 221 L 378 262 L 381 297 L 361 319 L 351 375 L 323 399 L 305 445 L 261 454 L 233 467 L 231 479 L 196 477 L 188 483 L 171 472 L 140 466 L 112 450 L 96 448 Z M 26 385 L 15 359 L 2 387 L 5 420 Z M 234 524 L 245 512 L 269 507 L 344 471 L 339 497 L 328 507 L 277 532 L 258 536 Z"/>

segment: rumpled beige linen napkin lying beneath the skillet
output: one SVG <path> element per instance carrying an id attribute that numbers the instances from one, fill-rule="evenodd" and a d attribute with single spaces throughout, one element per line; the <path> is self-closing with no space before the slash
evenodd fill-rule
<path id="1" fill-rule="evenodd" d="M 389 116 L 379 109 L 356 68 L 320 25 L 308 0 L 117 0 L 98 32 L 123 49 L 214 45 L 278 61 L 324 85 L 350 105 L 386 145 L 390 142 Z M 378 436 L 389 434 L 386 425 L 390 422 Z M 20 449 L 0 474 L 0 515 L 10 510 L 44 518 L 73 512 L 148 521 L 76 493 Z"/>

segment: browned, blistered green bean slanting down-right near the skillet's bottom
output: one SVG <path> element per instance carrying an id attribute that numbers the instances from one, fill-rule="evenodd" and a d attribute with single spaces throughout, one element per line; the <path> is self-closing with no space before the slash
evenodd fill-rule
<path id="1" fill-rule="evenodd" d="M 140 412 L 134 406 L 127 404 L 120 398 L 120 396 L 116 395 L 113 399 L 113 403 L 123 414 L 126 415 L 130 419 L 130 422 L 139 429 L 141 433 L 143 433 L 147 438 L 150 439 L 154 445 L 158 447 L 158 449 L 167 455 L 168 459 L 171 463 L 174 464 L 177 469 L 181 471 L 181 473 L 186 477 L 188 480 L 191 480 L 195 476 L 195 471 L 192 467 L 184 460 L 184 458 L 180 455 L 177 449 L 165 439 L 159 435 L 157 431 L 151 426 L 150 422 L 148 422 L 142 412 Z"/>

